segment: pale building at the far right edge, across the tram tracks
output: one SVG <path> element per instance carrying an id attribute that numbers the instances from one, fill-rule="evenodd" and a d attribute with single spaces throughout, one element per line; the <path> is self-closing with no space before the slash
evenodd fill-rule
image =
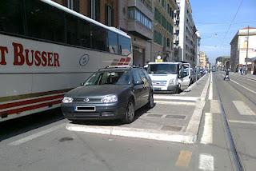
<path id="1" fill-rule="evenodd" d="M 246 67 L 250 73 L 256 72 L 256 28 L 246 27 L 238 30 L 230 42 L 230 65 L 231 71 L 238 71 Z M 249 58 L 246 62 L 246 56 Z"/>

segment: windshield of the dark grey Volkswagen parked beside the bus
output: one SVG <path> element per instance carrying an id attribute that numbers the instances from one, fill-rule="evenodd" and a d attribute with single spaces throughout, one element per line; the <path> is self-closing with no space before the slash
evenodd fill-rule
<path id="1" fill-rule="evenodd" d="M 85 85 L 129 85 L 130 71 L 100 71 L 94 73 Z"/>

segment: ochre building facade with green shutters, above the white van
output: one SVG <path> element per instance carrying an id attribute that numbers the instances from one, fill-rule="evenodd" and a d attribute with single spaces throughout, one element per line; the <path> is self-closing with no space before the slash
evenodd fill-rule
<path id="1" fill-rule="evenodd" d="M 154 34 L 152 59 L 162 57 L 164 62 L 174 61 L 174 10 L 178 10 L 174 0 L 154 0 Z"/>

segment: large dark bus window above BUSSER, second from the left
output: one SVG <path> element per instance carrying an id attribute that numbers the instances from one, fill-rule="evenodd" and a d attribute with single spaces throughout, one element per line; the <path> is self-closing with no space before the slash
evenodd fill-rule
<path id="1" fill-rule="evenodd" d="M 41 1 L 25 2 L 27 34 L 32 38 L 65 43 L 64 12 Z"/>

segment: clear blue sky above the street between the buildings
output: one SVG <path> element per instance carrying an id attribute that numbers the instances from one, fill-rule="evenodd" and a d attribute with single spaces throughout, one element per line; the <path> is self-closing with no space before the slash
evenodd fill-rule
<path id="1" fill-rule="evenodd" d="M 212 64 L 219 56 L 230 56 L 230 42 L 239 29 L 256 27 L 256 0 L 190 0 L 190 5 L 201 35 L 200 51 Z"/>

